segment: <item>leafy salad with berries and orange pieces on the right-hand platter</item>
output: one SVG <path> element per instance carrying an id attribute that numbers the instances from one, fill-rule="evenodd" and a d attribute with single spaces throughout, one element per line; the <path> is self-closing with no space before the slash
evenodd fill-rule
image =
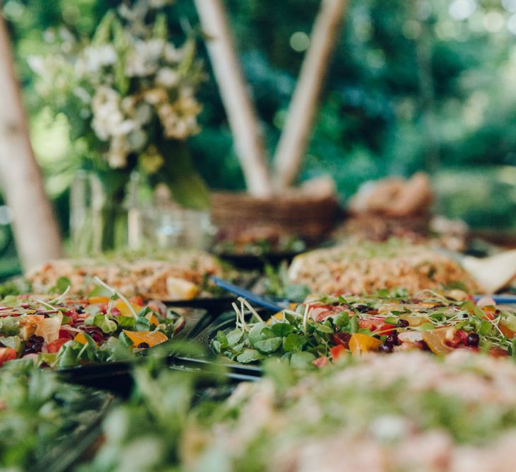
<path id="1" fill-rule="evenodd" d="M 265 321 L 245 299 L 236 326 L 219 330 L 212 349 L 243 364 L 278 357 L 292 367 L 321 367 L 346 353 L 455 350 L 516 357 L 516 307 L 475 301 L 459 289 L 403 290 L 308 297 Z"/>

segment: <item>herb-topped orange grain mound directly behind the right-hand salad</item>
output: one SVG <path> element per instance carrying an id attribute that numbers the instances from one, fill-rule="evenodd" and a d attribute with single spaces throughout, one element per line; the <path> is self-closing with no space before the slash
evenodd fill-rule
<path id="1" fill-rule="evenodd" d="M 396 287 L 413 293 L 453 284 L 470 293 L 478 290 L 456 260 L 424 244 L 398 239 L 351 241 L 298 255 L 289 267 L 289 280 L 324 294 L 362 294 Z"/>

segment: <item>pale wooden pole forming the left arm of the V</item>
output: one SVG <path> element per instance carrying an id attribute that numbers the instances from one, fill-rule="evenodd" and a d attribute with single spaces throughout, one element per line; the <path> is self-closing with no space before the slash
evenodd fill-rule
<path id="1" fill-rule="evenodd" d="M 224 4 L 222 0 L 195 0 L 195 5 L 248 192 L 269 197 L 273 188 L 258 117 L 243 79 Z"/>

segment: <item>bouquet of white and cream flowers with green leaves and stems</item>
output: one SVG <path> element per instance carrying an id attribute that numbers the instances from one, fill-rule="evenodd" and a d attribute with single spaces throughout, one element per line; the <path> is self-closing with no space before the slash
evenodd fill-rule
<path id="1" fill-rule="evenodd" d="M 151 185 L 166 183 L 180 205 L 209 204 L 185 145 L 199 132 L 195 91 L 204 74 L 193 35 L 179 47 L 168 40 L 169 3 L 122 4 L 105 14 L 93 38 L 61 30 L 50 54 L 30 58 L 39 95 L 67 117 L 79 168 L 93 174 L 88 205 L 98 209 L 97 221 L 82 215 L 71 221 L 103 226 L 101 242 L 93 244 L 100 250 L 113 247 L 116 207 L 120 212 L 134 171 Z M 93 195 L 96 189 L 100 197 Z"/>

